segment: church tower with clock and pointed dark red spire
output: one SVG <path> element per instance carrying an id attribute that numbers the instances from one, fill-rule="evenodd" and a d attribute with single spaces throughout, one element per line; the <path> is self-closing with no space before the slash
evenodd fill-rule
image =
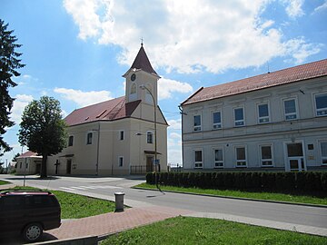
<path id="1" fill-rule="evenodd" d="M 157 82 L 160 76 L 154 71 L 145 54 L 143 44 L 141 44 L 131 68 L 124 73 L 123 77 L 126 82 L 126 103 L 141 100 L 144 103 L 158 104 Z M 147 89 L 144 89 L 144 86 Z M 154 100 L 148 90 L 154 95 Z"/>

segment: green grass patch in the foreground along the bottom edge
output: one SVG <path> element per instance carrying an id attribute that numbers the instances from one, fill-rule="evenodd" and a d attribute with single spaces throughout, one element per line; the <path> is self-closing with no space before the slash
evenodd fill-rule
<path id="1" fill-rule="evenodd" d="M 111 244 L 327 244 L 327 238 L 226 220 L 176 217 L 127 230 L 104 240 Z"/>

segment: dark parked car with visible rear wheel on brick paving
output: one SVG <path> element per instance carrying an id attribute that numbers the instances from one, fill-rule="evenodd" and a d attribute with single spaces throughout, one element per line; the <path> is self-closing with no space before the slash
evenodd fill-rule
<path id="1" fill-rule="evenodd" d="M 0 193 L 0 237 L 20 234 L 28 242 L 39 240 L 43 230 L 61 225 L 61 208 L 49 191 Z"/>

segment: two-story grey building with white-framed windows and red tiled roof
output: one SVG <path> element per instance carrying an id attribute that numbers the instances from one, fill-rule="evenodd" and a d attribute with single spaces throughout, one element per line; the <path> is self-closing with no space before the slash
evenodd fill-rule
<path id="1" fill-rule="evenodd" d="M 202 87 L 181 108 L 184 170 L 327 169 L 327 59 Z"/>

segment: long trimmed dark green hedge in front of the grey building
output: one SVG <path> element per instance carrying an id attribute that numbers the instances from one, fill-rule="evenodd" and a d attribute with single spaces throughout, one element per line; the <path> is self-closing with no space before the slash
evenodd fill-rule
<path id="1" fill-rule="evenodd" d="M 327 172 L 159 172 L 159 184 L 202 189 L 263 191 L 327 191 Z M 155 173 L 146 182 L 155 183 Z"/>

